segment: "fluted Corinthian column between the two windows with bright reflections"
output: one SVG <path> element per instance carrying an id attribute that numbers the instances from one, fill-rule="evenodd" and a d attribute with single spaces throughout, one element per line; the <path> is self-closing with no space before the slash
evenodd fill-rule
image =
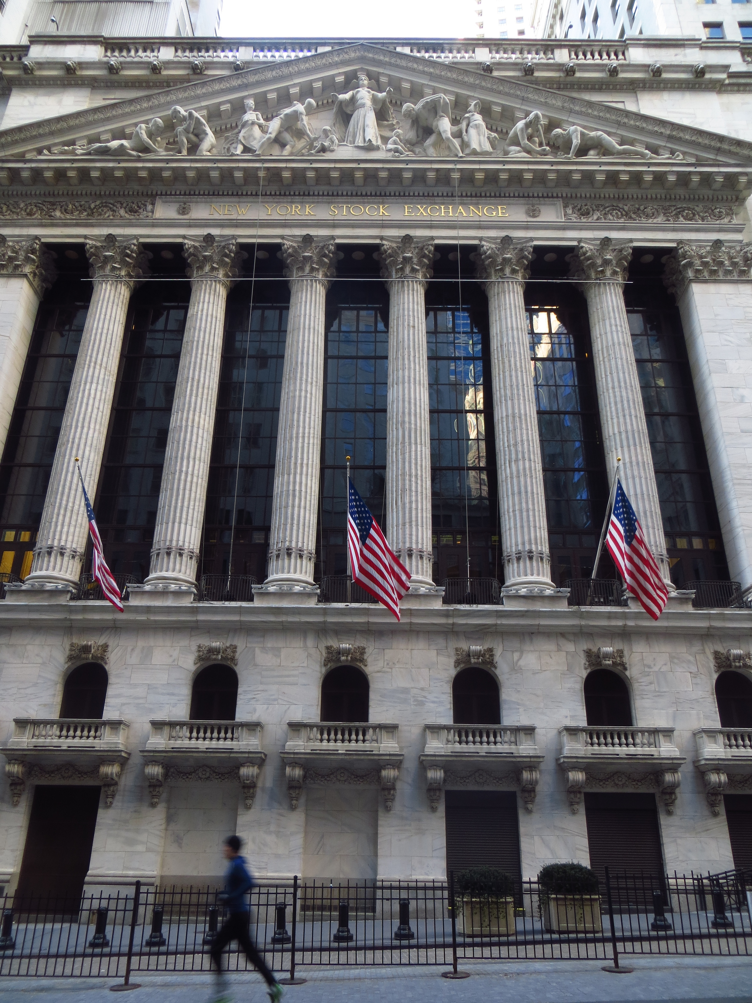
<path id="1" fill-rule="evenodd" d="M 475 259 L 488 297 L 505 596 L 554 589 L 522 296 L 531 254 L 532 241 L 502 237 L 497 244 L 481 241 Z"/>

